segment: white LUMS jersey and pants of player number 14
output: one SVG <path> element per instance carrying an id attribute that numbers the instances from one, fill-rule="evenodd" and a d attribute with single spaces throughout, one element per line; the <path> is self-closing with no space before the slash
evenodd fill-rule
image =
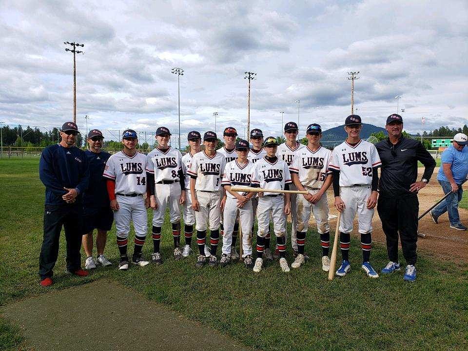
<path id="1" fill-rule="evenodd" d="M 142 196 L 146 193 L 146 163 L 146 155 L 139 152 L 127 156 L 119 151 L 107 160 L 102 176 L 116 182 L 119 209 L 114 212 L 114 220 L 117 237 L 128 237 L 132 220 L 136 236 L 146 237 L 148 216 Z"/>

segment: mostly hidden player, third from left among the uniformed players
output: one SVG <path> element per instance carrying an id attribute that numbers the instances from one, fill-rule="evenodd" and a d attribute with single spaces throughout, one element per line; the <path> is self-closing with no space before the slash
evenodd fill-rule
<path id="1" fill-rule="evenodd" d="M 182 207 L 184 215 L 184 236 L 185 236 L 185 246 L 182 251 L 183 257 L 188 257 L 192 254 L 192 235 L 194 233 L 195 225 L 195 211 L 192 208 L 192 194 L 190 193 L 190 176 L 187 174 L 187 171 L 192 165 L 192 160 L 196 153 L 200 152 L 200 133 L 196 131 L 189 132 L 187 136 L 189 142 L 190 151 L 182 156 L 182 171 L 185 176 L 185 203 Z"/>

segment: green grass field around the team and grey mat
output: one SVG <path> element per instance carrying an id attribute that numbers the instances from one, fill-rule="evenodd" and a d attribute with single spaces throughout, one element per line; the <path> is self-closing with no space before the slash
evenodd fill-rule
<path id="1" fill-rule="evenodd" d="M 118 272 L 113 230 L 106 254 L 114 268 L 78 278 L 64 274 L 62 240 L 56 283 L 50 289 L 41 288 L 37 271 L 44 187 L 38 163 L 38 159 L 0 160 L 1 305 L 110 277 L 254 349 L 468 348 L 468 264 L 456 266 L 421 256 L 415 283 L 404 282 L 402 273 L 369 279 L 360 271 L 359 243 L 353 240 L 351 273 L 329 282 L 319 263 L 318 235 L 312 232 L 306 246 L 311 260 L 287 274 L 280 272 L 276 262 L 260 274 L 247 272 L 240 264 L 195 269 L 194 256 L 175 262 L 171 258 L 172 235 L 165 227 L 161 245 L 166 260 L 162 266 Z M 144 252 L 152 252 L 151 240 L 147 240 Z M 288 261 L 291 263 L 290 254 Z M 374 248 L 372 262 L 378 270 L 387 263 L 385 247 Z M 0 320 L 0 350 L 21 346 L 18 326 Z"/>

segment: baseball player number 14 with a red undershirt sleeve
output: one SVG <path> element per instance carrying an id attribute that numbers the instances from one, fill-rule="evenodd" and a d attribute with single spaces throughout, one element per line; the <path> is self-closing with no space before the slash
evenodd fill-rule
<path id="1" fill-rule="evenodd" d="M 130 222 L 135 228 L 135 249 L 132 263 L 146 266 L 141 250 L 145 243 L 148 229 L 149 198 L 143 198 L 147 192 L 146 155 L 137 151 L 137 132 L 127 129 L 122 134 L 123 150 L 112 155 L 107 160 L 103 176 L 107 180 L 107 193 L 111 200 L 116 222 L 117 246 L 120 252 L 119 270 L 128 269 L 127 243 L 130 232 Z"/>

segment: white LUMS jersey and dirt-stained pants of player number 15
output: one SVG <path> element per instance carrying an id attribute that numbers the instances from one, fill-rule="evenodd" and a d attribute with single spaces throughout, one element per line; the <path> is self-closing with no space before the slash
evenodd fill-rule
<path id="1" fill-rule="evenodd" d="M 309 194 L 317 194 L 323 186 L 327 176 L 331 174 L 328 169 L 331 158 L 331 151 L 320 146 L 312 151 L 309 147 L 301 148 L 296 151 L 294 160 L 289 170 L 291 174 L 296 174 L 302 186 Z M 297 222 L 296 230 L 298 232 L 307 232 L 309 230 L 309 219 L 311 210 L 317 223 L 319 234 L 330 232 L 328 223 L 328 202 L 327 194 L 323 194 L 320 200 L 312 204 L 305 199 L 303 195 L 296 196 Z"/>

